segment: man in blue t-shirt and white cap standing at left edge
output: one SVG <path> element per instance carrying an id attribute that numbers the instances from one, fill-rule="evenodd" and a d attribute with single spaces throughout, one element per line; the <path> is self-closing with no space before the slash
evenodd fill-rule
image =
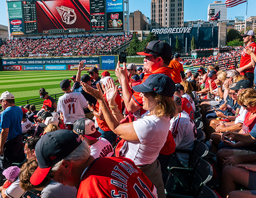
<path id="1" fill-rule="evenodd" d="M 14 95 L 8 91 L 0 98 L 3 112 L 1 113 L 0 167 L 4 170 L 14 162 L 21 163 L 25 159 L 22 144 L 22 110 L 15 106 Z"/>

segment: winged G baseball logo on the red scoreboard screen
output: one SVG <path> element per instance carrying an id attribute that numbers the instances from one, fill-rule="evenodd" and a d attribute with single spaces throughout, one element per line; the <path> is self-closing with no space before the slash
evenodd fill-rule
<path id="1" fill-rule="evenodd" d="M 56 7 L 59 15 L 62 17 L 62 21 L 68 25 L 72 25 L 76 22 L 76 13 L 74 9 L 65 6 Z"/>

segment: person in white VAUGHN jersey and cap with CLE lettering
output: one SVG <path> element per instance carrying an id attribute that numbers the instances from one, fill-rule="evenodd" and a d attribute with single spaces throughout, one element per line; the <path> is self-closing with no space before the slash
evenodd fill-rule
<path id="1" fill-rule="evenodd" d="M 74 130 L 83 141 L 89 145 L 90 155 L 98 157 L 111 157 L 114 154 L 112 145 L 107 139 L 100 137 L 101 133 L 95 129 L 90 119 L 78 119 L 74 123 Z"/>

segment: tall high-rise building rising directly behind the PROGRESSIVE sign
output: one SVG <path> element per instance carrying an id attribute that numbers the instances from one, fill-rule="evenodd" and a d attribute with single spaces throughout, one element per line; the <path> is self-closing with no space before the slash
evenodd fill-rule
<path id="1" fill-rule="evenodd" d="M 184 0 L 151 0 L 151 28 L 183 27 Z"/>

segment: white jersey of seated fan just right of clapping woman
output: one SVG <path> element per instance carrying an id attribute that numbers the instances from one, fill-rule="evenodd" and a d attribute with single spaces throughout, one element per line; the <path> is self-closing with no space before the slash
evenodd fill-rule
<path id="1" fill-rule="evenodd" d="M 190 116 L 185 111 L 182 111 L 178 116 L 170 120 L 170 131 L 176 144 L 175 149 L 193 149 L 194 140 L 196 140 L 194 136 L 197 131 Z M 177 153 L 176 157 L 178 157 L 182 165 L 188 167 L 188 154 Z"/>

